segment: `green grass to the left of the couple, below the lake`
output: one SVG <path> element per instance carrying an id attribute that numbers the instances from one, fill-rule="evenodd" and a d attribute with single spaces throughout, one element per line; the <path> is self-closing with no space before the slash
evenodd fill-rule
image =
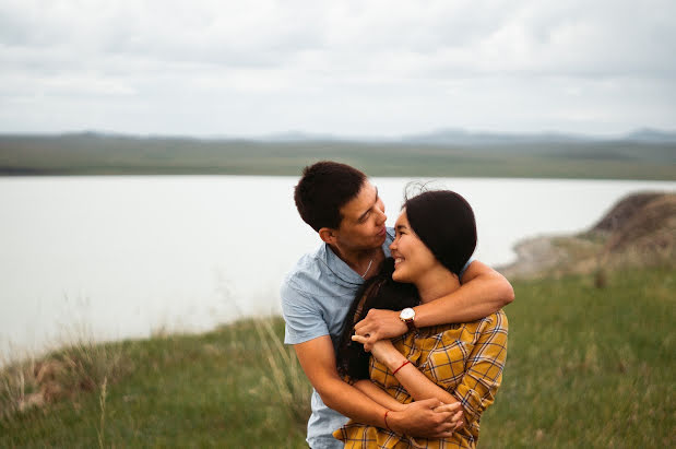
<path id="1" fill-rule="evenodd" d="M 310 387 L 293 368 L 293 350 L 266 356 L 269 341 L 261 339 L 273 333 L 278 341 L 282 332 L 278 319 L 248 320 L 199 335 L 112 344 L 122 359 L 112 376 L 46 406 L 14 407 L 0 418 L 0 447 L 299 447 Z M 271 369 L 270 355 L 292 368 Z M 5 369 L 0 378 L 20 371 Z M 0 391 L 4 409 L 12 398 Z"/>

